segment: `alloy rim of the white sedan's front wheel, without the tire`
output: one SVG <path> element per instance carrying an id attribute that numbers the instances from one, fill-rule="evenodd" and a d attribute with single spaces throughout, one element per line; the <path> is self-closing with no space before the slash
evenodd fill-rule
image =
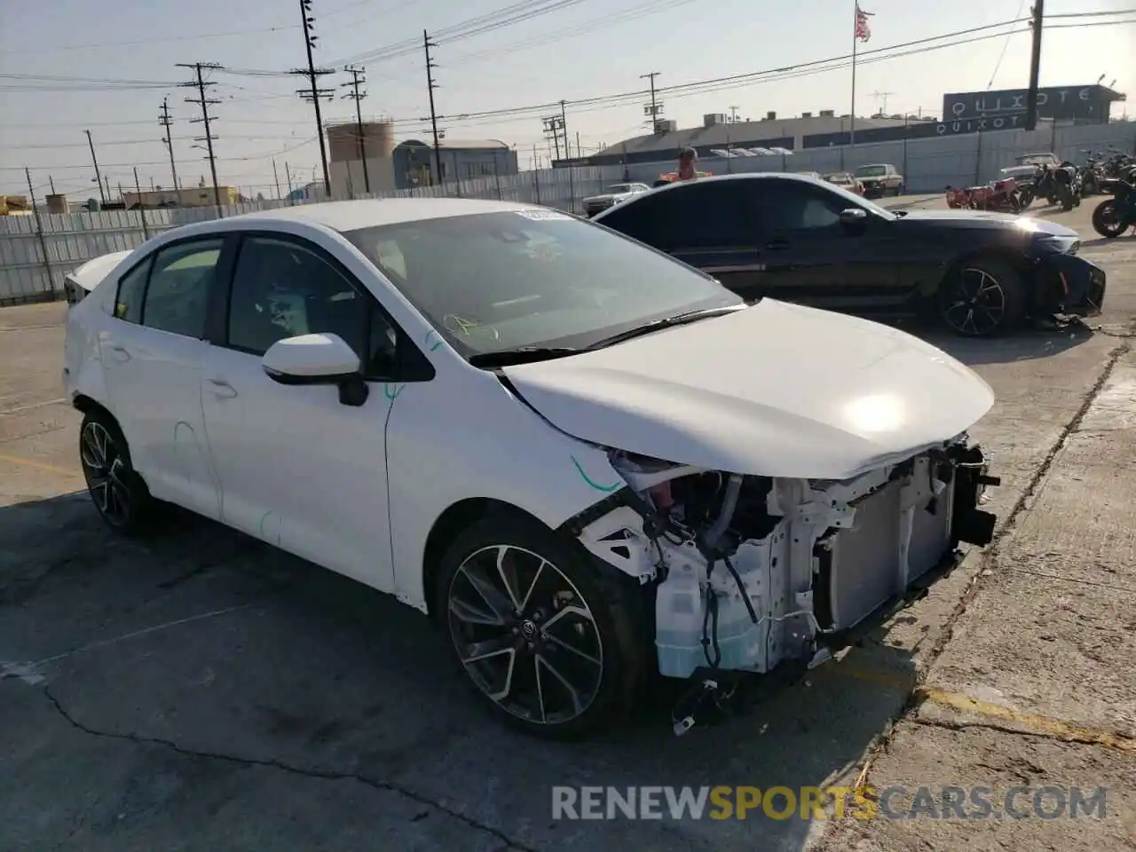
<path id="1" fill-rule="evenodd" d="M 603 642 L 576 585 L 524 548 L 469 554 L 448 593 L 450 637 L 476 686 L 527 722 L 562 725 L 600 692 Z"/>

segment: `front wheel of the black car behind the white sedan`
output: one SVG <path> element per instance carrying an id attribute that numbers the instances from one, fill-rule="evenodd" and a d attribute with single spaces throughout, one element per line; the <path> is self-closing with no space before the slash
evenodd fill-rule
<path id="1" fill-rule="evenodd" d="M 939 291 L 939 316 L 963 337 L 1012 331 L 1025 318 L 1021 275 L 996 259 L 963 262 Z"/>

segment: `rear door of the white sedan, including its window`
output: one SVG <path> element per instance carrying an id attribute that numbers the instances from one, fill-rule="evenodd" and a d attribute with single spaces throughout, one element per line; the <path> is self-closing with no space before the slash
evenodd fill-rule
<path id="1" fill-rule="evenodd" d="M 110 408 L 151 493 L 217 518 L 219 495 L 201 411 L 210 289 L 224 240 L 159 249 L 119 282 L 100 341 Z"/>

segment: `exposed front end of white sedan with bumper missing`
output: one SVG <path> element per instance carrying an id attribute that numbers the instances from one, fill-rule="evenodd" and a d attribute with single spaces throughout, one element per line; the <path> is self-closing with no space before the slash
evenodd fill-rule
<path id="1" fill-rule="evenodd" d="M 611 461 L 628 487 L 573 532 L 650 590 L 670 677 L 824 662 L 994 532 L 979 504 L 999 481 L 964 435 L 844 482 Z"/>

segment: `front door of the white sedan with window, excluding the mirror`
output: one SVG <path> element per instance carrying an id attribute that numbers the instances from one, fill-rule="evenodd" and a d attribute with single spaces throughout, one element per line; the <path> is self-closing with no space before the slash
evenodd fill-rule
<path id="1" fill-rule="evenodd" d="M 334 333 L 359 353 L 368 375 L 368 367 L 393 359 L 393 321 L 323 249 L 284 235 L 249 235 L 225 325 L 201 375 L 223 519 L 393 590 L 384 385 L 368 383 L 367 401 L 352 407 L 334 386 L 282 385 L 261 366 L 278 340 Z"/>

